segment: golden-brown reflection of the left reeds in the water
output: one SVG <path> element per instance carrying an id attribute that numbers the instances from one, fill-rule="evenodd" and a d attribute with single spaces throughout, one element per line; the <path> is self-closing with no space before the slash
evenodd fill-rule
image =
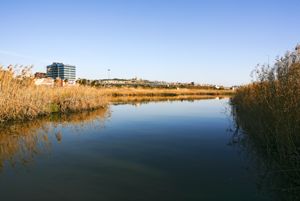
<path id="1" fill-rule="evenodd" d="M 60 143 L 63 140 L 62 127 L 71 126 L 78 132 L 87 124 L 104 125 L 109 116 L 109 108 L 102 108 L 0 125 L 0 171 L 4 170 L 6 163 L 12 167 L 27 165 L 33 162 L 37 155 L 50 152 L 52 142 L 49 138 L 54 136 Z"/>

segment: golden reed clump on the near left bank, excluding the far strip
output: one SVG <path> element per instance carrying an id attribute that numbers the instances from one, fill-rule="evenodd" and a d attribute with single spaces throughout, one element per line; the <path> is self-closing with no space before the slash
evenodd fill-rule
<path id="1" fill-rule="evenodd" d="M 92 110 L 108 103 L 102 91 L 92 87 L 35 86 L 29 71 L 27 67 L 0 67 L 0 122 Z"/>

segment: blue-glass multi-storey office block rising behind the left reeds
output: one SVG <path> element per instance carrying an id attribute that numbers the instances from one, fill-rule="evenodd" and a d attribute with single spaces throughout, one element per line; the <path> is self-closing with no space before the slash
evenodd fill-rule
<path id="1" fill-rule="evenodd" d="M 62 80 L 75 81 L 76 67 L 63 63 L 53 63 L 47 66 L 47 77 L 53 79 L 60 78 Z"/>

